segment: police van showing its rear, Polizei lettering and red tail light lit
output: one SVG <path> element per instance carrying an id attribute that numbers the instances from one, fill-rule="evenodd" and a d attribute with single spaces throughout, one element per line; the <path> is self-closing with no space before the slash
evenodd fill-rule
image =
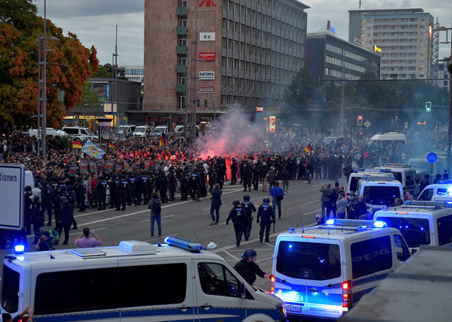
<path id="1" fill-rule="evenodd" d="M 338 319 L 410 257 L 399 230 L 383 222 L 329 219 L 279 234 L 272 292 L 288 319 Z"/>

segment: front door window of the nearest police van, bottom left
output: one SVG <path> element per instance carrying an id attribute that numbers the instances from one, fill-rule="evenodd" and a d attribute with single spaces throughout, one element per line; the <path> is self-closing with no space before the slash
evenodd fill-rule
<path id="1" fill-rule="evenodd" d="M 240 297 L 240 281 L 223 265 L 199 263 L 198 273 L 203 293 Z"/>

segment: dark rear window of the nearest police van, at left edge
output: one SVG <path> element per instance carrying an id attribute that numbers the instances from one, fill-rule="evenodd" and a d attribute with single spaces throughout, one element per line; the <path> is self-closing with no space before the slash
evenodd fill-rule
<path id="1" fill-rule="evenodd" d="M 10 267 L 3 265 L 1 274 L 1 307 L 6 312 L 18 310 L 18 287 L 20 274 Z"/>

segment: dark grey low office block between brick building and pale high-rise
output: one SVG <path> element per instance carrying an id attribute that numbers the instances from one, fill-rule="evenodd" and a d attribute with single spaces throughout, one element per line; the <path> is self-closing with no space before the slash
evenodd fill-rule
<path id="1" fill-rule="evenodd" d="M 307 33 L 307 71 L 314 81 L 360 79 L 366 71 L 379 78 L 380 55 L 331 33 Z"/>

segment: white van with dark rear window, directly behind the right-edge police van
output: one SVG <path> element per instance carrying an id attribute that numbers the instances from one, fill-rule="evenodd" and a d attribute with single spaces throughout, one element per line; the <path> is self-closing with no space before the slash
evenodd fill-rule
<path id="1" fill-rule="evenodd" d="M 402 184 L 394 177 L 363 176 L 358 181 L 356 194 L 364 198 L 366 205 L 374 210 L 393 206 L 395 198 L 403 200 Z"/>

